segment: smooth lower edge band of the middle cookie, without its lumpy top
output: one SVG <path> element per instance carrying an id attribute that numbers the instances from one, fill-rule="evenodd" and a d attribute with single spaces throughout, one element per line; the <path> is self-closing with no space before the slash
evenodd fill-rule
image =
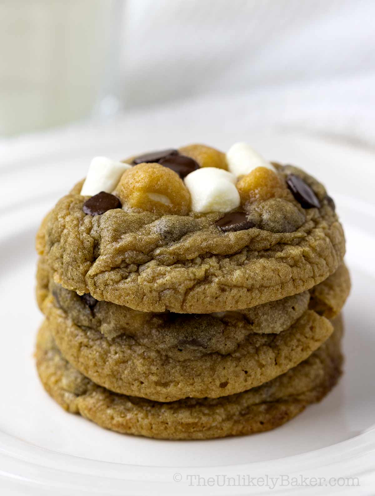
<path id="1" fill-rule="evenodd" d="M 308 358 L 332 333 L 328 319 L 306 310 L 280 334 L 248 334 L 228 352 L 202 353 L 191 342 L 165 349 L 127 334 L 108 340 L 76 325 L 52 296 L 44 311 L 57 346 L 80 372 L 111 391 L 156 401 L 215 398 L 258 386 Z"/>

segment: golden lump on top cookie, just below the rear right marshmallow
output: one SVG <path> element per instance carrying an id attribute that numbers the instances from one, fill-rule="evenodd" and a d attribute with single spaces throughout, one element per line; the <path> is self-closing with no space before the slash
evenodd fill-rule
<path id="1" fill-rule="evenodd" d="M 287 187 L 281 176 L 266 167 L 257 167 L 236 184 L 241 204 L 257 200 L 287 196 Z"/>

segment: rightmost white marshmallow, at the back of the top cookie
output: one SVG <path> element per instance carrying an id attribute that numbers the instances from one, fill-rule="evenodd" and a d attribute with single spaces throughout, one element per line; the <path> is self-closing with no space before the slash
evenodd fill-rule
<path id="1" fill-rule="evenodd" d="M 236 176 L 249 174 L 257 167 L 267 167 L 275 171 L 270 162 L 267 162 L 247 143 L 234 143 L 227 152 L 229 170 Z"/>

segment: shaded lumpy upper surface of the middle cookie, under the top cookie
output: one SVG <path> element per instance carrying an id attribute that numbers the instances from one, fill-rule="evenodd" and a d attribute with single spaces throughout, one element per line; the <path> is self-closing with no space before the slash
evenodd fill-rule
<path id="1" fill-rule="evenodd" d="M 98 330 L 108 339 L 125 333 L 147 347 L 156 346 L 171 358 L 177 355 L 179 359 L 234 351 L 249 333 L 279 334 L 308 308 L 333 318 L 343 307 L 349 290 L 348 270 L 342 265 L 326 281 L 310 290 L 310 294 L 314 292 L 313 298 L 305 291 L 245 310 L 193 315 L 152 313 L 98 302 L 89 294 L 79 296 L 64 289 L 49 279 L 43 257 L 37 271 L 37 300 L 42 311 L 42 302 L 49 291 L 55 305 L 78 326 Z"/>

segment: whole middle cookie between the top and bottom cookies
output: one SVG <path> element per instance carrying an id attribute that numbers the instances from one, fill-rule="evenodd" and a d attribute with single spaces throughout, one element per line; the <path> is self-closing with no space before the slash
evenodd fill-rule
<path id="1" fill-rule="evenodd" d="M 66 358 L 108 389 L 157 401 L 233 394 L 286 372 L 331 332 L 328 320 L 308 308 L 319 307 L 332 317 L 350 288 L 343 266 L 312 290 L 324 300 L 309 301 L 305 292 L 253 307 L 245 315 L 160 315 L 107 302 L 90 308 L 53 282 L 51 293 L 46 292 L 44 272 L 41 263 L 38 300 Z M 285 310 L 288 314 L 278 320 Z"/>

